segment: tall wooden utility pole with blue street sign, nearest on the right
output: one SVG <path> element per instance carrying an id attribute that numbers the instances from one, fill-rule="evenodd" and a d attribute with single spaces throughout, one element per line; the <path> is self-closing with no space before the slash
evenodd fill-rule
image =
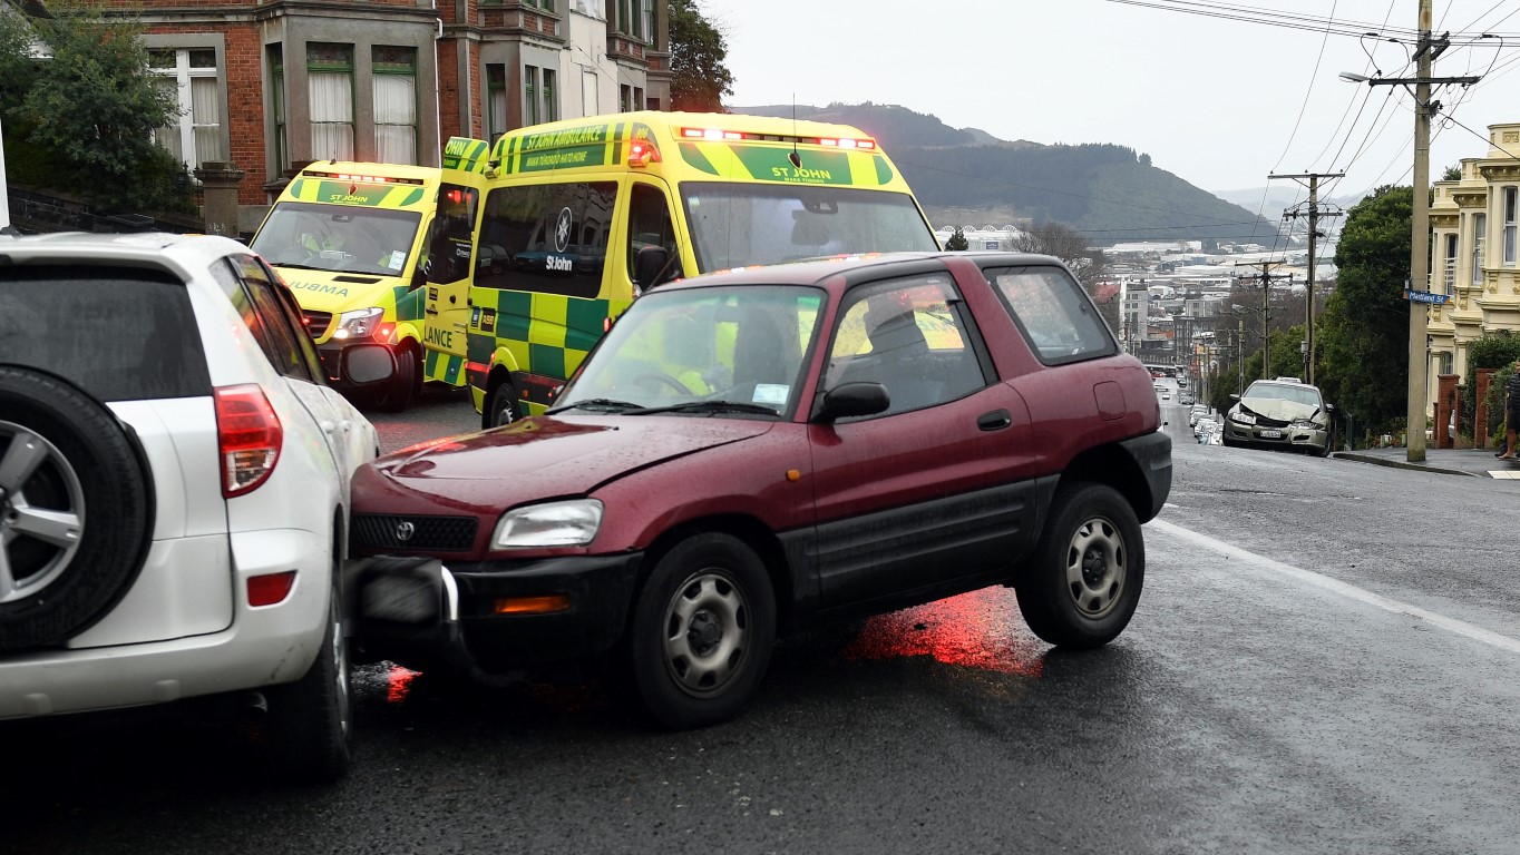
<path id="1" fill-rule="evenodd" d="M 1406 292 L 1430 290 L 1430 114 L 1441 111 L 1441 102 L 1430 100 L 1430 87 L 1461 84 L 1470 87 L 1482 77 L 1432 77 L 1430 62 L 1435 61 L 1452 39 L 1447 33 L 1430 38 L 1430 0 L 1420 0 L 1420 39 L 1415 47 L 1417 73 L 1414 77 L 1363 77 L 1341 73 L 1342 80 L 1365 82 L 1370 87 L 1409 87 L 1415 94 L 1415 199 L 1414 225 L 1409 235 L 1409 284 Z M 1409 301 L 1409 407 L 1404 412 L 1404 450 L 1411 463 L 1424 460 L 1424 409 L 1426 383 L 1429 383 L 1430 357 L 1426 345 L 1426 304 Z"/>

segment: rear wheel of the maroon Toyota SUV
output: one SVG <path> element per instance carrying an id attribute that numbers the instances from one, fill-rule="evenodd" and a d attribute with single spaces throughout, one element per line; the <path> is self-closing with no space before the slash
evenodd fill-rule
<path id="1" fill-rule="evenodd" d="M 1102 647 L 1129 624 L 1145 582 L 1145 542 L 1128 501 L 1107 484 L 1056 491 L 1018 586 L 1018 610 L 1041 639 L 1058 647 Z"/>

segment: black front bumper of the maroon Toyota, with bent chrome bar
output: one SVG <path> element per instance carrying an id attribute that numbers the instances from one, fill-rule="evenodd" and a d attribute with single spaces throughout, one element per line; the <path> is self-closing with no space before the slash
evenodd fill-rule
<path id="1" fill-rule="evenodd" d="M 485 671 L 594 658 L 623 635 L 641 559 L 625 553 L 447 566 L 424 557 L 357 559 L 345 569 L 351 635 L 372 656 Z M 497 614 L 499 601 L 530 597 L 564 597 L 568 606 Z"/>

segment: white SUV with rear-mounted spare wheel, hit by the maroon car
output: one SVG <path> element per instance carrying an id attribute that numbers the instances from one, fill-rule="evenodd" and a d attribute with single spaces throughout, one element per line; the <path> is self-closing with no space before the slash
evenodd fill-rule
<path id="1" fill-rule="evenodd" d="M 0 237 L 0 718 L 257 689 L 281 771 L 347 770 L 334 569 L 377 442 L 327 374 L 240 243 Z"/>

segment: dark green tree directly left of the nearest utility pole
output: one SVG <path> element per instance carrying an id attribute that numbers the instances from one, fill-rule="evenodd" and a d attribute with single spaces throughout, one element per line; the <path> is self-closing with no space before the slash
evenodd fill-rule
<path id="1" fill-rule="evenodd" d="M 1409 381 L 1412 187 L 1379 187 L 1347 214 L 1336 287 L 1319 319 L 1315 377 L 1330 401 L 1374 433 L 1403 425 Z"/>

